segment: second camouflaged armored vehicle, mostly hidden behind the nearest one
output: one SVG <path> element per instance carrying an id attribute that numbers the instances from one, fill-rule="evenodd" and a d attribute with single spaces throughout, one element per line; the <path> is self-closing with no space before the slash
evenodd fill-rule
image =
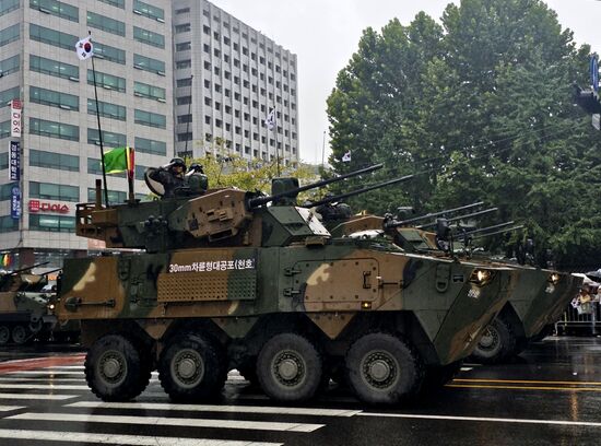
<path id="1" fill-rule="evenodd" d="M 443 214 L 448 215 L 449 213 L 466 211 L 481 204 L 483 203 L 478 202 L 405 221 L 391 221 L 390 219 L 387 220 L 374 215 L 353 216 L 346 222 L 339 223 L 331 232 L 338 236 L 344 236 L 353 232 L 369 228 L 386 230 L 392 234 L 394 243 L 405 250 L 428 253 L 435 257 L 447 257 L 451 253 L 449 250 L 445 253 L 440 248 L 450 246 L 452 242 L 449 239 L 445 222 L 439 222 L 440 227 L 437 233 L 425 232 L 425 225 L 419 227 L 410 225 L 424 219 L 437 218 Z M 479 212 L 470 213 L 470 215 Z M 458 220 L 460 218 L 451 218 L 449 220 Z M 512 223 L 508 222 L 488 228 L 472 230 L 469 233 L 466 232 L 464 235 L 493 235 L 518 227 L 512 226 L 500 230 L 502 226 L 509 226 Z M 462 249 L 462 254 L 460 255 L 464 258 L 470 258 L 473 262 L 488 266 L 505 266 L 516 271 L 516 281 L 509 300 L 495 320 L 486 328 L 471 356 L 471 360 L 478 362 L 498 363 L 520 353 L 530 340 L 537 339 L 539 336 L 547 332 L 550 325 L 558 319 L 580 286 L 578 278 L 568 273 L 538 269 L 516 262 L 500 262 L 480 254 L 474 255 L 466 249 Z"/>

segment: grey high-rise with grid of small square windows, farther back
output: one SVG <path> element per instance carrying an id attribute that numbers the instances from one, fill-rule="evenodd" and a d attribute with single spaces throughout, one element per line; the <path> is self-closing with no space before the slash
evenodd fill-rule
<path id="1" fill-rule="evenodd" d="M 205 0 L 174 0 L 173 23 L 177 153 L 297 161 L 296 55 Z"/>

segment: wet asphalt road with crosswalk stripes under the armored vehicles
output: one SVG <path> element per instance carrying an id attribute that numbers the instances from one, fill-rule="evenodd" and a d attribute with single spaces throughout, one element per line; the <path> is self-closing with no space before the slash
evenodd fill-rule
<path id="1" fill-rule="evenodd" d="M 12 360 L 78 352 L 0 352 L 1 445 L 592 445 L 601 437 L 601 338 L 550 337 L 509 364 L 467 364 L 435 395 L 392 409 L 366 408 L 333 384 L 311 404 L 282 408 L 236 373 L 222 400 L 207 406 L 169 404 L 155 376 L 135 403 L 103 404 L 85 386 L 81 359 L 2 372 L 19 364 Z"/>

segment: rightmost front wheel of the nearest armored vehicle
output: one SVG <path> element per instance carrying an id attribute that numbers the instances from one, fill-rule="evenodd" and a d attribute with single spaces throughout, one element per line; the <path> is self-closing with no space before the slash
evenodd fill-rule
<path id="1" fill-rule="evenodd" d="M 358 399 L 394 404 L 414 395 L 423 380 L 422 361 L 401 339 L 369 333 L 351 345 L 345 359 L 347 382 Z"/>

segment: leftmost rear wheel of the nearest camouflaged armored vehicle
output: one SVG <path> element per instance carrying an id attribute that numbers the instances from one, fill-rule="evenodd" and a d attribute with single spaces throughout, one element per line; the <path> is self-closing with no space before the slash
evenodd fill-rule
<path id="1" fill-rule="evenodd" d="M 135 342 L 122 334 L 105 334 L 85 356 L 85 380 L 103 401 L 129 401 L 146 388 L 150 371 Z"/>

